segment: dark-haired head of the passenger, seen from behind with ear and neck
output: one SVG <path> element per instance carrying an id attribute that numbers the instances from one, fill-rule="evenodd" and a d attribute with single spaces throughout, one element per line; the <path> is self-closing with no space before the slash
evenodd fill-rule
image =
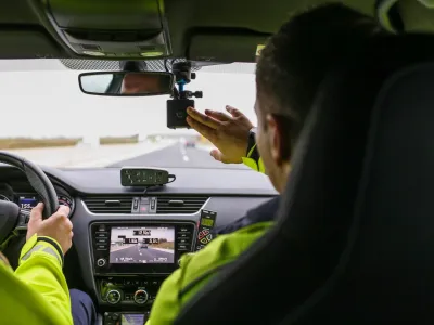
<path id="1" fill-rule="evenodd" d="M 282 192 L 294 144 L 327 73 L 379 31 L 373 20 L 341 4 L 293 16 L 268 41 L 256 67 L 257 146 L 273 186 Z"/>

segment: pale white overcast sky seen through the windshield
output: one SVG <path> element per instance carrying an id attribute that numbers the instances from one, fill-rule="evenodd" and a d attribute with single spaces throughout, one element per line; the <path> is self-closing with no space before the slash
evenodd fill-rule
<path id="1" fill-rule="evenodd" d="M 0 138 L 116 136 L 136 133 L 145 136 L 150 133 L 175 132 L 166 127 L 168 96 L 87 95 L 78 87 L 78 74 L 82 72 L 51 68 L 49 63 L 39 61 L 35 67 L 35 61 L 14 61 L 14 65 L 20 67 L 15 69 L 20 72 L 5 72 L 13 68 L 4 61 L 0 65 L 3 121 Z M 199 72 L 197 78 L 187 89 L 203 91 L 204 98 L 195 99 L 199 109 L 225 109 L 225 105 L 229 104 L 240 108 L 256 125 L 253 74 Z"/>

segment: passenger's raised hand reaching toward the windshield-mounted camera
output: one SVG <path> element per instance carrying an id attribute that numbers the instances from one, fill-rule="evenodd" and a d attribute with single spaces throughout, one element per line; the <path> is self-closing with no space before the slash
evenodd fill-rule
<path id="1" fill-rule="evenodd" d="M 226 110 L 229 114 L 210 109 L 202 114 L 189 107 L 187 122 L 217 147 L 210 152 L 214 159 L 225 164 L 240 164 L 246 155 L 248 131 L 253 125 L 239 109 L 226 106 Z"/>

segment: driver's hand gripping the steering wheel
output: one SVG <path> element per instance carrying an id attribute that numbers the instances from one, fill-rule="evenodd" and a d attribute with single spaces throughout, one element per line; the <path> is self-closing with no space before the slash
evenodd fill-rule
<path id="1" fill-rule="evenodd" d="M 61 245 L 63 253 L 66 253 L 73 245 L 73 223 L 68 219 L 69 208 L 60 206 L 59 210 L 46 220 L 42 220 L 42 211 L 43 204 L 41 203 L 31 209 L 26 239 L 35 234 L 53 238 Z"/>

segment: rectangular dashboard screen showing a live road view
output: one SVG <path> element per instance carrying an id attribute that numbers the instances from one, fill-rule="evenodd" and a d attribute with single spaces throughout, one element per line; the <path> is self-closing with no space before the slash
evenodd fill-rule
<path id="1" fill-rule="evenodd" d="M 174 263 L 175 227 L 112 227 L 110 263 Z"/>

